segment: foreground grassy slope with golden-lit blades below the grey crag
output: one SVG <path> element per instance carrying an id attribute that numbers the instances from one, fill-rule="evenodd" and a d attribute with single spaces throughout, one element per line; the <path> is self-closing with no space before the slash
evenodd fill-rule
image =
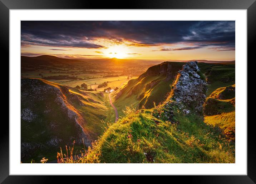
<path id="1" fill-rule="evenodd" d="M 82 157 L 82 163 L 234 163 L 235 150 L 221 133 L 197 115 L 174 112 L 177 124 L 128 111 Z M 131 137 L 128 137 L 131 134 Z"/>

